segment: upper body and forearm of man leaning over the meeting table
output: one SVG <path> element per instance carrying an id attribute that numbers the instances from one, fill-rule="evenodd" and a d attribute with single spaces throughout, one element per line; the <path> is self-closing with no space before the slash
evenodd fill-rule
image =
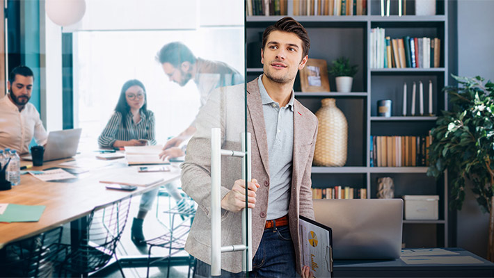
<path id="1" fill-rule="evenodd" d="M 182 42 L 166 44 L 158 52 L 156 60 L 161 64 L 170 81 L 178 83 L 182 87 L 191 79 L 196 83 L 200 95 L 200 107 L 204 106 L 212 90 L 244 83 L 242 75 L 230 65 L 219 61 L 196 58 L 191 49 Z M 166 142 L 164 152 L 160 155 L 161 158 L 184 156 L 184 149 L 173 147 L 178 147 L 194 132 L 196 132 L 195 120 L 177 137 Z"/>

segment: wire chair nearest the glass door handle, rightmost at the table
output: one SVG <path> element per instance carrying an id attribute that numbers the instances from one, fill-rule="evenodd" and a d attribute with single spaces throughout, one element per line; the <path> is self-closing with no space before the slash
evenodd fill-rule
<path id="1" fill-rule="evenodd" d="M 177 204 L 173 208 L 170 208 L 164 213 L 170 215 L 170 227 L 166 227 L 168 231 L 156 238 L 152 238 L 150 240 L 146 240 L 146 243 L 149 245 L 148 248 L 148 272 L 146 277 L 149 277 L 149 270 L 152 263 L 156 263 L 157 261 L 162 261 L 164 259 L 168 259 L 168 269 L 166 273 L 166 277 L 170 277 L 170 257 L 178 252 L 184 250 L 185 241 L 187 236 L 189 235 L 189 231 L 191 229 L 191 222 L 193 220 L 194 215 L 196 215 L 196 208 L 194 207 L 193 200 L 186 196 L 184 197 L 184 201 L 181 204 Z M 178 220 L 175 218 L 179 216 Z M 176 226 L 175 226 L 176 224 Z M 162 247 L 168 248 L 168 255 L 163 256 L 159 259 L 151 260 L 151 250 L 152 247 Z M 193 257 L 189 256 L 189 274 L 191 272 L 191 267 L 193 267 Z"/>

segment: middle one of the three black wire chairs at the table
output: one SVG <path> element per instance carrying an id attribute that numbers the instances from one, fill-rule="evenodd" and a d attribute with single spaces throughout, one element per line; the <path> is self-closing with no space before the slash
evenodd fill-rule
<path id="1" fill-rule="evenodd" d="M 93 209 L 78 243 L 65 245 L 67 252 L 61 265 L 61 276 L 88 275 L 103 268 L 113 256 L 122 277 L 125 277 L 115 249 L 127 224 L 130 204 L 131 198 L 127 198 L 114 202 L 106 208 Z"/>

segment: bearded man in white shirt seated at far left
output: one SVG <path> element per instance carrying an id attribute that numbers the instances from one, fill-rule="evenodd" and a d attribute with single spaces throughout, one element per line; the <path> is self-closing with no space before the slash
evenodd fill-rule
<path id="1" fill-rule="evenodd" d="M 27 153 L 33 136 L 38 145 L 47 143 L 40 113 L 29 103 L 33 83 L 34 74 L 29 67 L 19 65 L 10 72 L 8 95 L 0 99 L 0 149 L 8 147 L 19 154 Z"/>

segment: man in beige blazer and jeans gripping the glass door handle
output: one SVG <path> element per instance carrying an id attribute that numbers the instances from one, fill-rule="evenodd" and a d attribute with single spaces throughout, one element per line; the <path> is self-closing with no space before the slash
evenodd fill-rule
<path id="1" fill-rule="evenodd" d="M 280 19 L 263 34 L 264 74 L 247 83 L 247 129 L 251 133 L 254 178 L 247 183 L 248 207 L 253 208 L 249 244 L 254 256 L 253 277 L 296 277 L 297 272 L 309 275 L 308 268 L 301 265 L 298 217 L 314 219 L 310 172 L 317 118 L 294 99 L 293 90 L 298 70 L 307 63 L 309 48 L 305 28 L 292 17 Z M 185 247 L 198 259 L 198 277 L 209 277 L 211 271 L 210 129 L 221 127 L 222 149 L 239 149 L 243 100 L 244 85 L 212 93 L 197 117 L 198 130 L 182 165 L 182 188 L 199 205 Z M 238 158 L 222 156 L 221 165 L 221 244 L 240 244 L 246 181 L 240 179 Z M 223 277 L 244 275 L 239 273 L 239 252 L 221 257 Z"/>

